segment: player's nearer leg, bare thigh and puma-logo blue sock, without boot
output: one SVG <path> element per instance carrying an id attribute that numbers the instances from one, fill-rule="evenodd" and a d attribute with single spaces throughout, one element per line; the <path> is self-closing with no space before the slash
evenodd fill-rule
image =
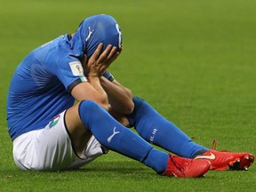
<path id="1" fill-rule="evenodd" d="M 159 162 L 155 168 L 152 167 L 156 172 L 164 172 L 166 169 L 168 154 L 153 149 L 91 100 L 84 100 L 79 105 L 69 108 L 66 113 L 66 124 L 71 140 L 79 153 L 82 152 L 80 149 L 84 148 L 83 136 L 86 132 L 92 132 L 103 146 L 150 167 L 154 166 L 155 162 Z"/>

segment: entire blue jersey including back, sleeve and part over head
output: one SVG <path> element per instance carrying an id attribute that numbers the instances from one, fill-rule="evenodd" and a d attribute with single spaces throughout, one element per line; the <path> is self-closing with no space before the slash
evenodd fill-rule
<path id="1" fill-rule="evenodd" d="M 81 60 L 88 59 L 103 43 L 122 46 L 121 28 L 108 15 L 85 19 L 74 36 L 60 36 L 44 44 L 21 61 L 16 69 L 7 100 L 7 123 L 14 140 L 20 134 L 42 129 L 52 117 L 73 106 L 70 91 L 87 81 Z"/>

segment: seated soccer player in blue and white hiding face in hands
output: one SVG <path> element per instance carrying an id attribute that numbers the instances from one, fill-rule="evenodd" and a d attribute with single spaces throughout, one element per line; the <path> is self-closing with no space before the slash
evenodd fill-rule
<path id="1" fill-rule="evenodd" d="M 204 148 L 145 100 L 132 97 L 108 73 L 122 52 L 122 40 L 114 18 L 95 15 L 76 33 L 43 44 L 21 61 L 7 100 L 13 157 L 20 170 L 75 169 L 108 149 L 160 175 L 180 178 L 252 165 L 252 154 Z M 139 135 L 126 127 L 135 127 Z"/>

